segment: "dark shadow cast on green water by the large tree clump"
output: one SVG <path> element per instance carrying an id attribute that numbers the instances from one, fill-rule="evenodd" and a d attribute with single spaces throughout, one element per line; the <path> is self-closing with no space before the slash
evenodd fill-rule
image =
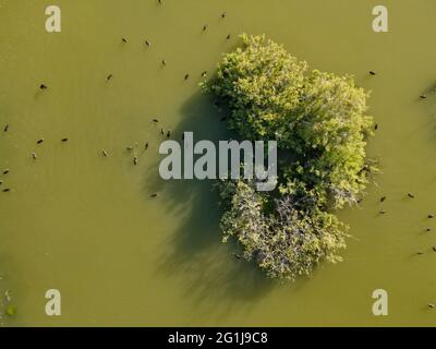
<path id="1" fill-rule="evenodd" d="M 228 140 L 230 133 L 221 122 L 219 111 L 208 96 L 196 94 L 181 108 L 182 121 L 171 139 L 182 144 L 183 132 L 192 131 L 194 142 Z M 158 164 L 147 178 L 147 186 L 159 192 L 169 216 L 181 220 L 177 230 L 165 243 L 157 262 L 159 277 L 180 279 L 186 300 L 198 312 L 225 317 L 232 311 L 249 311 L 254 302 L 272 289 L 269 280 L 255 265 L 238 260 L 235 243 L 223 244 L 219 220 L 219 193 L 216 181 L 170 180 L 164 181 Z M 149 195 L 149 190 L 145 189 Z"/>

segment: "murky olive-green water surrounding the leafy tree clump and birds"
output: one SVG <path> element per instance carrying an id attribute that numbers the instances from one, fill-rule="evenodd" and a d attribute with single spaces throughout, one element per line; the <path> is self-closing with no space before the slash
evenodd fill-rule
<path id="1" fill-rule="evenodd" d="M 0 168 L 12 189 L 0 192 L 0 289 L 17 306 L 7 325 L 436 324 L 436 220 L 426 218 L 436 212 L 436 97 L 417 98 L 436 80 L 433 0 L 385 0 L 388 34 L 371 27 L 378 1 L 58 0 L 60 34 L 45 31 L 49 4 L 0 0 L 0 125 L 10 124 Z M 344 262 L 293 285 L 266 280 L 220 243 L 213 183 L 165 183 L 157 172 L 153 118 L 174 139 L 228 137 L 197 83 L 242 32 L 373 91 L 370 154 L 383 173 L 360 208 L 341 213 L 354 237 Z M 59 317 L 45 314 L 50 288 L 62 293 Z M 378 288 L 389 316 L 372 314 Z"/>

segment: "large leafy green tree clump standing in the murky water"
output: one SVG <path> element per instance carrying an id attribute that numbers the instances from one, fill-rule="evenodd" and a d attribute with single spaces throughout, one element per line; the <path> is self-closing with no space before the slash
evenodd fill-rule
<path id="1" fill-rule="evenodd" d="M 356 203 L 375 170 L 365 159 L 367 94 L 349 76 L 308 72 L 263 36 L 242 40 L 204 88 L 229 106 L 229 129 L 242 139 L 277 141 L 280 185 L 261 194 L 246 181 L 222 182 L 225 240 L 235 237 L 269 276 L 294 279 L 340 261 L 347 227 L 332 212 Z"/>

